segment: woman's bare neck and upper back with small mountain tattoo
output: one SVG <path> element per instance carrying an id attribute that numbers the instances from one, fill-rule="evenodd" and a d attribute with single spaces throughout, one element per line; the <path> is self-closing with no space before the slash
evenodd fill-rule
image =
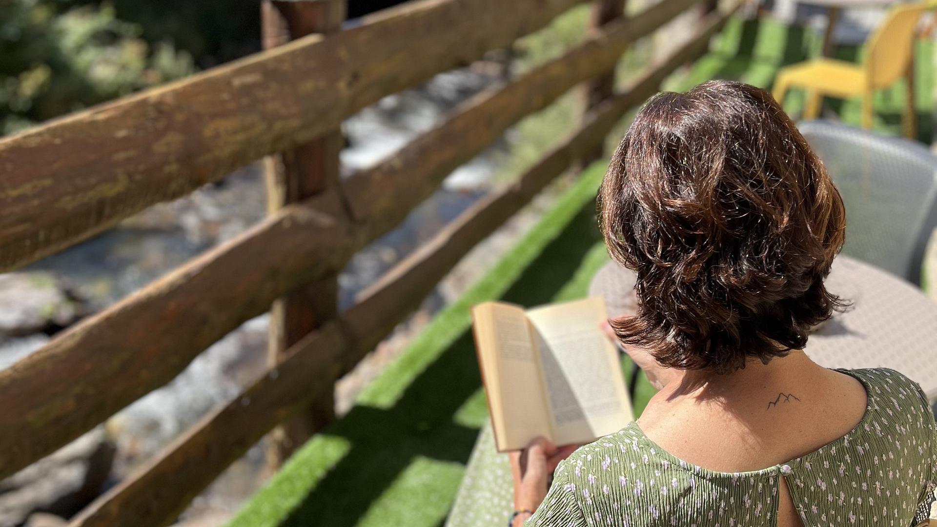
<path id="1" fill-rule="evenodd" d="M 866 391 L 803 352 L 716 375 L 674 371 L 638 425 L 687 462 L 744 472 L 794 459 L 839 438 L 865 413 Z"/>

